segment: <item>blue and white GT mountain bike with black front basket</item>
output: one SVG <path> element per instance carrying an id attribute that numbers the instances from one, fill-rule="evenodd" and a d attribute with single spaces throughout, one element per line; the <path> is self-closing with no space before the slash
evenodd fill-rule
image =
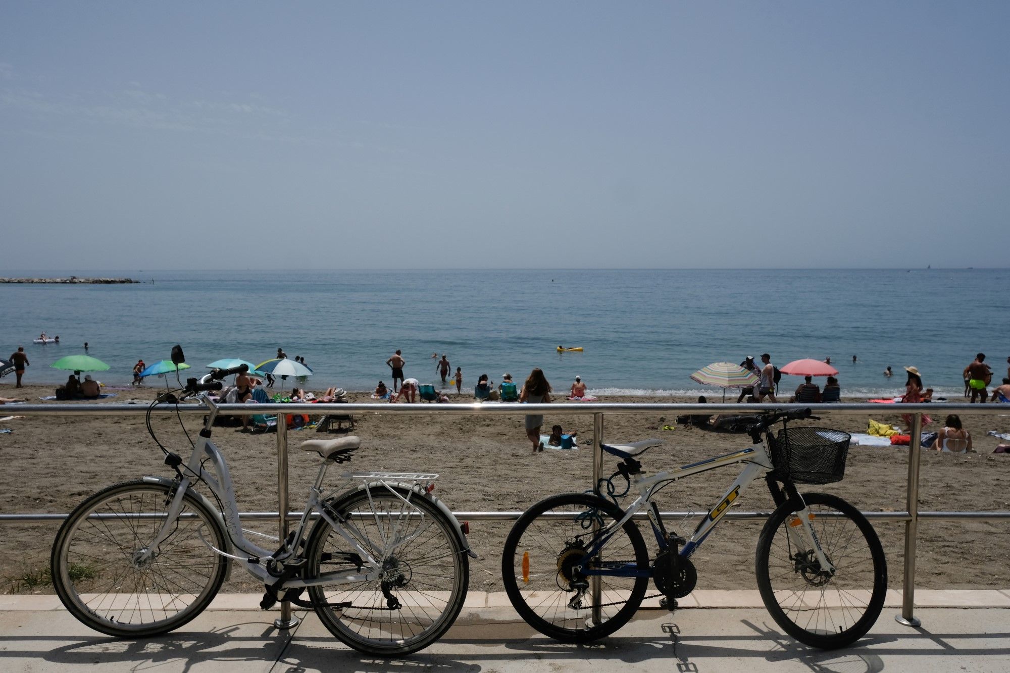
<path id="1" fill-rule="evenodd" d="M 512 605 L 543 635 L 568 642 L 593 641 L 624 626 L 645 599 L 649 580 L 664 606 L 674 609 L 697 581 L 692 554 L 764 475 L 777 507 L 759 538 L 754 570 L 769 612 L 786 633 L 812 647 L 840 648 L 858 640 L 883 607 L 887 562 L 876 532 L 853 505 L 797 491 L 797 483 L 839 481 L 845 470 L 848 435 L 787 427 L 789 420 L 809 417 L 815 417 L 810 409 L 759 414 L 749 428 L 753 446 L 651 477 L 642 476 L 635 456 L 661 440 L 603 445 L 621 463 L 596 493 L 540 500 L 512 527 L 502 552 Z M 769 428 L 779 421 L 783 427 L 773 436 Z M 743 464 L 743 471 L 690 539 L 668 532 L 652 496 L 685 477 L 735 464 Z M 620 478 L 626 488 L 615 493 Z M 632 485 L 638 496 L 621 509 L 616 498 Z M 651 559 L 632 519 L 642 510 L 658 546 Z"/>

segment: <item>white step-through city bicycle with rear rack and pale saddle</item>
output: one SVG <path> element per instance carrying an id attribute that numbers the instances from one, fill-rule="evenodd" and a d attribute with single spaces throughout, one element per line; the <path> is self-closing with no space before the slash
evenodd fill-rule
<path id="1" fill-rule="evenodd" d="M 173 360 L 184 361 L 179 347 Z M 326 490 L 329 465 L 349 461 L 361 442 L 311 440 L 302 450 L 318 453 L 323 463 L 297 527 L 283 542 L 243 531 L 228 465 L 210 441 L 217 406 L 206 391 L 245 370 L 214 370 L 152 403 L 147 430 L 176 477 L 109 486 L 71 512 L 50 561 L 64 605 L 110 636 L 164 634 L 206 608 L 238 564 L 264 583 L 264 609 L 277 600 L 314 608 L 336 638 L 361 652 L 406 654 L 436 641 L 463 607 L 468 556 L 476 558 L 465 526 L 431 495 L 438 475 L 348 473 L 342 476 L 349 488 Z M 202 401 L 210 413 L 184 463 L 158 441 L 150 412 L 185 399 Z M 200 482 L 216 506 L 194 490 Z M 246 534 L 271 538 L 277 548 L 258 547 Z"/>

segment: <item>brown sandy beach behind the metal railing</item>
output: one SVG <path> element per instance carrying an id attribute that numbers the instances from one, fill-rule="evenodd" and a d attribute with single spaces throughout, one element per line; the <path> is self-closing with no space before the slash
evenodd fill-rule
<path id="1" fill-rule="evenodd" d="M 149 400 L 157 387 L 118 389 L 108 402 L 130 399 Z M 0 385 L 0 396 L 26 397 L 32 402 L 52 394 L 52 386 L 26 386 L 15 390 L 13 381 Z M 352 394 L 350 401 L 373 402 L 366 394 Z M 461 397 L 461 401 L 470 398 Z M 671 402 L 691 401 L 663 398 L 604 397 L 600 401 Z M 854 401 L 854 400 L 853 400 Z M 864 400 L 857 400 L 864 401 Z M 961 400 L 952 400 L 961 401 Z M 86 402 L 81 402 L 86 403 Z M 92 403 L 92 402 L 87 402 Z M 592 451 L 547 450 L 531 454 L 524 437 L 523 414 L 423 416 L 382 414 L 387 405 L 376 404 L 376 413 L 357 414 L 356 435 L 363 447 L 350 467 L 356 470 L 387 469 L 437 472 L 435 495 L 448 506 L 462 510 L 520 510 L 546 495 L 590 488 Z M 17 406 L 0 408 L 0 416 L 17 414 Z M 649 437 L 667 440 L 668 445 L 650 450 L 642 458 L 646 471 L 654 473 L 696 460 L 745 447 L 745 436 L 721 435 L 690 426 L 660 429 L 673 423 L 671 417 L 652 412 L 609 414 L 604 422 L 604 441 L 629 442 Z M 885 406 L 873 418 L 900 423 Z M 184 416 L 187 428 L 195 432 L 199 417 Z M 993 455 L 999 443 L 986 431 L 1010 430 L 1010 418 L 962 415 L 965 427 L 975 439 L 977 454 L 951 455 L 923 452 L 920 508 L 923 510 L 1005 510 L 1010 509 L 1010 456 Z M 935 418 L 932 428 L 942 425 Z M 548 414 L 544 423 L 561 423 L 566 430 L 578 430 L 580 444 L 592 441 L 592 416 Z M 186 440 L 175 417 L 154 420 L 166 446 L 186 453 Z M 864 431 L 866 418 L 854 415 L 826 417 L 817 424 L 846 431 Z M 0 422 L 13 429 L 0 435 L 0 456 L 5 469 L 0 473 L 0 512 L 67 512 L 94 491 L 106 485 L 147 474 L 171 475 L 162 465 L 162 454 L 150 441 L 141 416 L 89 418 L 26 416 Z M 313 429 L 293 431 L 291 439 L 291 508 L 299 509 L 308 485 L 318 468 L 319 458 L 298 450 L 298 443 L 320 437 Z M 328 437 L 337 437 L 330 435 Z M 235 428 L 215 430 L 214 441 L 227 457 L 235 482 L 239 508 L 276 510 L 276 436 L 248 434 Z M 615 462 L 605 459 L 605 472 Z M 865 510 L 903 510 L 907 477 L 907 448 L 852 447 L 848 454 L 845 479 L 836 484 L 806 487 L 836 493 Z M 337 485 L 338 470 L 328 481 Z M 713 505 L 735 476 L 734 468 L 699 475 L 665 489 L 659 496 L 663 509 L 693 510 L 704 513 Z M 772 506 L 763 484 L 756 482 L 736 506 L 744 510 Z M 480 559 L 471 566 L 474 589 L 501 589 L 500 554 L 508 522 L 474 521 L 470 541 Z M 891 588 L 901 586 L 904 523 L 875 524 L 888 555 Z M 270 523 L 248 527 L 264 533 L 276 530 Z M 690 534 L 693 521 L 668 522 L 668 527 Z M 0 592 L 15 590 L 18 578 L 48 565 L 49 546 L 57 524 L 7 524 L 0 540 Z M 753 550 L 760 522 L 724 522 L 693 557 L 698 567 L 699 588 L 755 588 Z M 1006 523 L 981 521 L 929 521 L 919 525 L 917 586 L 924 588 L 1005 588 L 1010 587 L 1006 559 L 1010 556 L 1010 536 Z M 257 591 L 257 585 L 241 572 L 232 574 L 225 590 Z M 21 588 L 23 589 L 23 586 Z M 39 586 L 34 591 L 52 591 Z"/>

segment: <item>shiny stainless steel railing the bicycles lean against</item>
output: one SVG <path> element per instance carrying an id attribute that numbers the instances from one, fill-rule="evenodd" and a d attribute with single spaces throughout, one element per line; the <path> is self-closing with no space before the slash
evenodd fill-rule
<path id="1" fill-rule="evenodd" d="M 909 446 L 908 480 L 906 484 L 906 511 L 863 512 L 868 518 L 880 521 L 905 521 L 905 563 L 903 569 L 904 583 L 902 587 L 901 613 L 895 619 L 907 626 L 919 626 L 915 616 L 915 560 L 916 536 L 920 518 L 934 520 L 942 519 L 976 519 L 999 521 L 1010 519 L 1010 511 L 919 511 L 919 437 L 922 427 L 922 413 L 970 413 L 974 415 L 1005 414 L 1007 407 L 998 404 L 890 404 L 886 408 L 879 404 L 835 403 L 835 404 L 747 404 L 740 407 L 736 404 L 635 404 L 622 403 L 579 403 L 579 404 L 525 404 L 522 407 L 513 404 L 313 404 L 310 410 L 318 413 L 408 413 L 408 414 L 524 414 L 524 413 L 572 413 L 593 415 L 593 485 L 599 481 L 603 472 L 603 450 L 600 444 L 603 439 L 604 414 L 621 413 L 747 413 L 755 411 L 771 411 L 783 408 L 802 408 L 809 406 L 816 415 L 849 414 L 861 415 L 871 413 L 911 413 L 913 414 L 912 441 Z M 143 415 L 146 405 L 134 404 L 19 404 L 9 407 L 18 415 Z M 251 413 L 304 413 L 304 404 L 222 404 L 219 411 L 222 414 Z M 209 409 L 198 404 L 180 405 L 179 411 L 185 414 L 205 414 Z M 162 408 L 157 413 L 176 413 L 176 409 Z M 277 432 L 277 477 L 278 477 L 278 511 L 244 512 L 240 516 L 250 520 L 276 519 L 280 538 L 287 537 L 288 521 L 297 519 L 301 512 L 288 510 L 288 432 L 286 423 L 278 423 Z M 282 516 L 280 512 L 288 512 Z M 509 520 L 518 518 L 519 511 L 461 511 L 456 512 L 461 518 L 474 520 Z M 664 517 L 683 517 L 693 512 L 662 512 Z M 727 519 L 761 519 L 767 518 L 771 512 L 732 511 L 727 512 Z M 28 523 L 44 521 L 62 521 L 68 514 L 0 514 L 0 523 Z M 641 513 L 640 516 L 645 516 Z M 594 590 L 594 596 L 596 596 Z M 594 604 L 598 604 L 595 600 Z M 279 629 L 290 629 L 297 623 L 297 617 L 292 614 L 291 603 L 282 602 L 281 617 L 275 621 Z"/>

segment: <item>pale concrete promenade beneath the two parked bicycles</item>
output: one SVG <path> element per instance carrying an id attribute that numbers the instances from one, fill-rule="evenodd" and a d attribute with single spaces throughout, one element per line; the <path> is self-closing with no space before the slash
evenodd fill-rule
<path id="1" fill-rule="evenodd" d="M 259 597 L 218 596 L 203 614 L 168 636 L 117 641 L 90 631 L 50 595 L 0 596 L 0 670 L 261 671 L 340 673 L 436 671 L 1010 671 L 1010 591 L 916 592 L 922 627 L 894 620 L 900 595 L 856 647 L 821 652 L 785 637 L 756 591 L 698 590 L 674 614 L 642 609 L 617 634 L 589 646 L 556 643 L 532 631 L 504 594 L 472 592 L 441 641 L 405 659 L 346 648 L 314 613 L 290 633 L 260 611 Z M 693 600 L 692 600 L 693 599 Z"/>

